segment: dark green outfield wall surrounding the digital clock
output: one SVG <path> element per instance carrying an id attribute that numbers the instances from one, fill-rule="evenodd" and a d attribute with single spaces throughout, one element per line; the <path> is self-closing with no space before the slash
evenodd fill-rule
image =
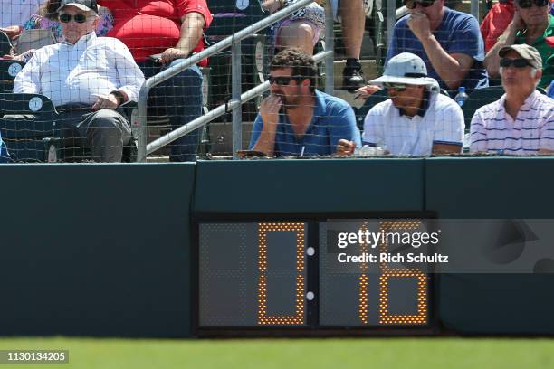
<path id="1" fill-rule="evenodd" d="M 2 336 L 194 336 L 197 219 L 554 218 L 552 158 L 0 166 Z M 443 275 L 468 334 L 553 334 L 553 275 Z"/>

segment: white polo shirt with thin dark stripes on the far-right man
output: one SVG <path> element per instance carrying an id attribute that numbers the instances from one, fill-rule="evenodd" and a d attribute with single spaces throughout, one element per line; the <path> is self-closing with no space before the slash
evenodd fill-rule
<path id="1" fill-rule="evenodd" d="M 534 91 L 515 119 L 506 112 L 506 95 L 475 111 L 471 126 L 472 153 L 534 155 L 554 150 L 554 100 Z"/>

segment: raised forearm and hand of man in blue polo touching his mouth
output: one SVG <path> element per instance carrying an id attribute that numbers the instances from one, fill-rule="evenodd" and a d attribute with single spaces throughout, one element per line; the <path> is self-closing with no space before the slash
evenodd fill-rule
<path id="1" fill-rule="evenodd" d="M 270 95 L 263 99 L 260 105 L 260 115 L 256 118 L 256 122 L 254 123 L 253 142 L 251 143 L 252 150 L 261 151 L 266 156 L 273 156 L 281 107 L 282 101 L 278 96 Z M 261 130 L 259 128 L 260 118 L 263 125 Z M 256 136 L 258 137 L 256 138 Z"/>

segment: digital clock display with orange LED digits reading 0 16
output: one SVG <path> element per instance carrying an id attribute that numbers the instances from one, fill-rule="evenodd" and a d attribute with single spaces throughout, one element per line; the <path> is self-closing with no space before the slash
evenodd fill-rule
<path id="1" fill-rule="evenodd" d="M 429 327 L 427 271 L 365 259 L 390 245 L 364 235 L 391 230 L 425 223 L 200 222 L 198 328 Z"/>

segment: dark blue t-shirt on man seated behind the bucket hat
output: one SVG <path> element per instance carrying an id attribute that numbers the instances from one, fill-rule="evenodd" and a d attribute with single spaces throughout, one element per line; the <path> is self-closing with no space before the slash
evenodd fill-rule
<path id="1" fill-rule="evenodd" d="M 412 52 L 425 61 L 428 76 L 437 80 L 442 89 L 448 90 L 444 81 L 441 80 L 433 68 L 431 61 L 429 61 L 423 44 L 408 27 L 407 20 L 409 16 L 408 14 L 396 22 L 387 52 L 387 61 L 401 52 Z M 443 21 L 433 31 L 433 34 L 445 52 L 449 54 L 463 53 L 473 58 L 473 67 L 461 84 L 468 93 L 473 89 L 489 85 L 487 72 L 482 66 L 484 60 L 482 36 L 479 31 L 479 24 L 473 15 L 460 13 L 444 6 Z"/>

